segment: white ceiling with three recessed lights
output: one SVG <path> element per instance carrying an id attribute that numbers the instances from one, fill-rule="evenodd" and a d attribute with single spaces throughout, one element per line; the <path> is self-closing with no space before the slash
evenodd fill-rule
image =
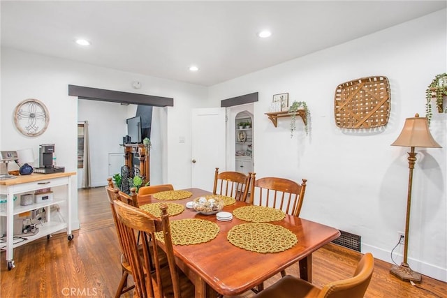
<path id="1" fill-rule="evenodd" d="M 447 1 L 1 1 L 1 45 L 212 86 Z M 270 38 L 256 33 L 270 29 Z M 89 47 L 73 42 L 87 38 Z M 196 72 L 189 66 L 198 66 Z"/>

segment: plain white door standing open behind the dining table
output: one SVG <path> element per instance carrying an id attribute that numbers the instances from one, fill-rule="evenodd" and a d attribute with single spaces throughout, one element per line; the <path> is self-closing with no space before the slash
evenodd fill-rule
<path id="1" fill-rule="evenodd" d="M 225 108 L 193 109 L 191 136 L 191 187 L 212 191 L 214 171 L 225 166 Z"/>

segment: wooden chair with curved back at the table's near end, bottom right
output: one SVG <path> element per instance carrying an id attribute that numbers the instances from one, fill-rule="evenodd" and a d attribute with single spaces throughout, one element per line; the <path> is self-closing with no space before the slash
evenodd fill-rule
<path id="1" fill-rule="evenodd" d="M 357 265 L 352 278 L 333 281 L 317 288 L 316 285 L 287 275 L 269 288 L 259 292 L 256 298 L 361 298 L 365 296 L 369 281 L 374 271 L 374 258 L 371 253 L 365 253 Z"/>

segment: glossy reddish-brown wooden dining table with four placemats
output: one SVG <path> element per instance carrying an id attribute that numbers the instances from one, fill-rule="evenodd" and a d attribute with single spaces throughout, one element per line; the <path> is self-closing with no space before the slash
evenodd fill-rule
<path id="1" fill-rule="evenodd" d="M 154 202 L 175 202 L 186 206 L 186 202 L 211 195 L 209 191 L 188 188 L 193 195 L 183 200 L 156 200 L 152 195 L 138 196 L 138 204 Z M 222 211 L 233 210 L 249 205 L 236 201 L 223 207 Z M 321 223 L 286 214 L 282 221 L 272 221 L 296 235 L 298 243 L 279 253 L 256 253 L 231 244 L 227 239 L 228 231 L 235 225 L 247 223 L 233 216 L 231 221 L 218 221 L 216 215 L 200 214 L 185 208 L 181 214 L 171 216 L 170 221 L 184 218 L 200 218 L 216 223 L 219 234 L 216 238 L 202 244 L 175 245 L 174 254 L 177 265 L 195 285 L 195 297 L 216 297 L 216 293 L 233 296 L 256 287 L 281 270 L 299 262 L 300 278 L 312 282 L 312 253 L 321 246 L 337 239 L 340 232 Z"/>

